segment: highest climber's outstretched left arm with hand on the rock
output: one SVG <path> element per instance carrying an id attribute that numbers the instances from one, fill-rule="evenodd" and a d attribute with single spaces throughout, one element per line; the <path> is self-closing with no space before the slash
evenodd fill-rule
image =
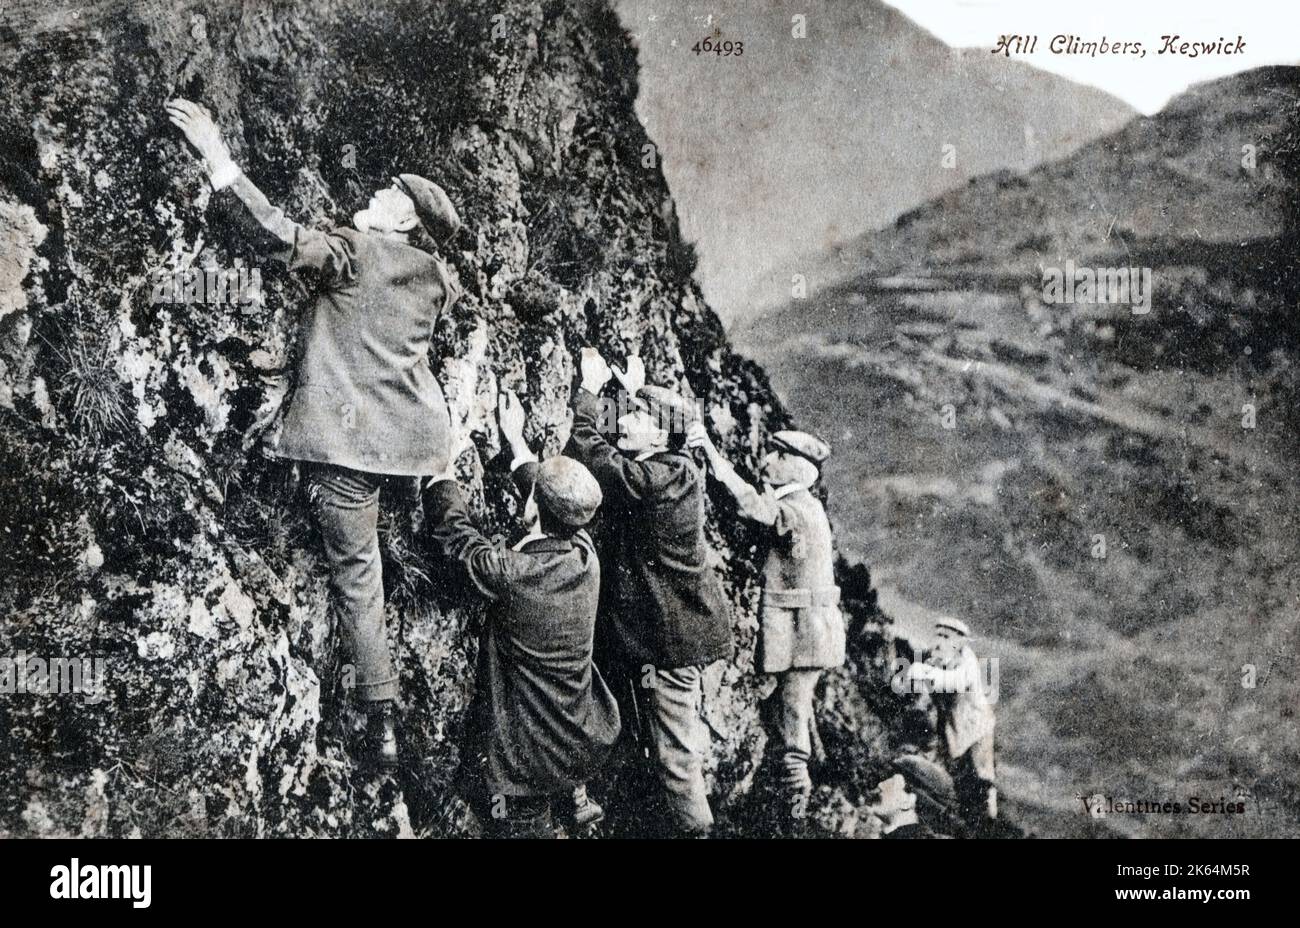
<path id="1" fill-rule="evenodd" d="M 176 99 L 166 103 L 166 112 L 172 125 L 199 152 L 213 190 L 229 187 L 257 224 L 278 242 L 274 257 L 291 268 L 315 268 L 329 278 L 352 277 L 352 243 L 343 235 L 302 226 L 286 217 L 278 207 L 273 207 L 239 170 L 221 138 L 221 130 L 203 107 Z"/>

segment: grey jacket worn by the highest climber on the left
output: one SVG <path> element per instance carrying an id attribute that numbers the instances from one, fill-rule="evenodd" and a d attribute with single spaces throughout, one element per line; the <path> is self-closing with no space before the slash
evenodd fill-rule
<path id="1" fill-rule="evenodd" d="M 384 235 L 292 222 L 248 178 L 230 190 L 290 268 L 322 291 L 303 316 L 298 383 L 274 448 L 283 458 L 421 476 L 447 465 L 447 403 L 429 368 L 438 313 L 455 299 L 432 255 Z"/>

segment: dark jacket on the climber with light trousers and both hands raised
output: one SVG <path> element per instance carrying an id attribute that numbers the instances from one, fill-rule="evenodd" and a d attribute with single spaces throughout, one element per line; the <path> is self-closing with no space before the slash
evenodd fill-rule
<path id="1" fill-rule="evenodd" d="M 620 660 L 671 669 L 731 658 L 731 612 L 708 567 L 699 468 L 677 452 L 624 455 L 601 434 L 599 417 L 599 400 L 578 390 L 567 454 L 604 493 L 606 602 Z"/>

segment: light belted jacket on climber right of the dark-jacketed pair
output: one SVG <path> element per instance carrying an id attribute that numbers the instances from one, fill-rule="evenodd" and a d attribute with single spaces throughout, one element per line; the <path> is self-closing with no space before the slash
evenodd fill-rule
<path id="1" fill-rule="evenodd" d="M 845 651 L 844 616 L 831 522 L 822 503 L 797 483 L 759 493 L 725 460 L 715 473 L 736 498 L 740 513 L 772 530 L 759 607 L 759 671 L 838 667 Z"/>

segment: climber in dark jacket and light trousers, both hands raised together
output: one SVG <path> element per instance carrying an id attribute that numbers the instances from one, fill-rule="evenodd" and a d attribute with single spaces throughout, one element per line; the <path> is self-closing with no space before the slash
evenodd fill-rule
<path id="1" fill-rule="evenodd" d="M 696 411 L 672 391 L 646 386 L 640 357 L 611 370 L 599 352 L 584 348 L 581 374 L 568 454 L 595 474 L 608 508 L 604 621 L 618 662 L 608 671 L 641 720 L 663 825 L 703 836 L 714 824 L 703 775 L 703 671 L 729 659 L 733 646 L 722 580 L 708 564 L 703 476 L 682 450 Z M 599 398 L 615 376 L 634 407 L 619 417 L 616 437 L 602 432 L 610 417 Z"/>

